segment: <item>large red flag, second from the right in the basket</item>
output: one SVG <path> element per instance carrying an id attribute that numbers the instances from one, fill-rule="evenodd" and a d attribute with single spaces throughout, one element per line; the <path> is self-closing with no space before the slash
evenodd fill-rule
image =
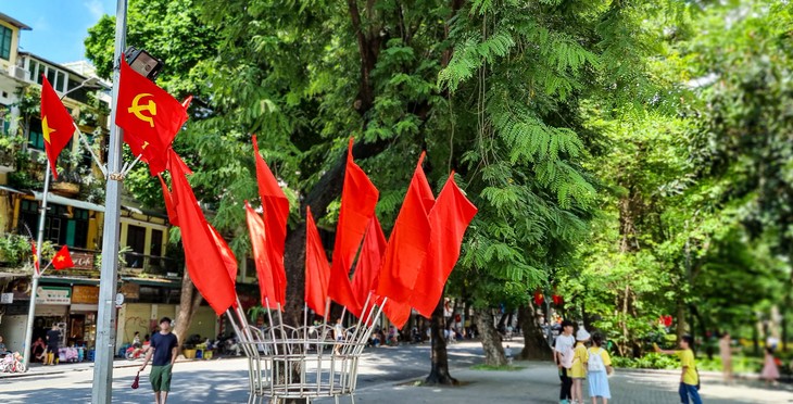
<path id="1" fill-rule="evenodd" d="M 424 153 L 388 240 L 378 280 L 377 294 L 401 303 L 410 301 L 429 243 L 427 205 L 432 200 L 432 191 L 421 169 L 423 161 Z"/>

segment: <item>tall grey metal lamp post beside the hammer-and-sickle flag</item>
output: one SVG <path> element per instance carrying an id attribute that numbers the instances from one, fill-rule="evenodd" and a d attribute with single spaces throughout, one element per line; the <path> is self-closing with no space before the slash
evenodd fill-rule
<path id="1" fill-rule="evenodd" d="M 102 231 L 102 269 L 99 283 L 99 313 L 97 346 L 93 366 L 91 403 L 110 404 L 113 395 L 113 356 L 115 348 L 115 294 L 118 275 L 118 236 L 122 190 L 121 128 L 115 125 L 118 104 L 118 75 L 127 31 L 127 0 L 117 0 L 115 13 L 115 52 L 113 54 L 113 96 L 111 100 L 110 142 L 108 152 L 108 184 L 104 199 L 104 228 Z"/>

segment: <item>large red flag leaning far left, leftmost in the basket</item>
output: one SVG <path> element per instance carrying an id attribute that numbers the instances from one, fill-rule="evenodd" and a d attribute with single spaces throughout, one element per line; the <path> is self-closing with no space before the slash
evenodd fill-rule
<path id="1" fill-rule="evenodd" d="M 206 223 L 196 195 L 187 182 L 181 165 L 173 162 L 171 169 L 174 209 L 179 217 L 185 261 L 196 288 L 218 316 L 237 302 L 237 292 L 222 247 Z M 230 253 L 230 251 L 226 251 Z M 236 273 L 236 268 L 235 268 Z"/>

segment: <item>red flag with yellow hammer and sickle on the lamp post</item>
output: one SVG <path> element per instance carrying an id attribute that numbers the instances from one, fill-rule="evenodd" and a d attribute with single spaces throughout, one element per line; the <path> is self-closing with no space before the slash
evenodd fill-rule
<path id="1" fill-rule="evenodd" d="M 152 175 L 168 163 L 167 150 L 187 122 L 186 108 L 162 88 L 135 72 L 122 58 L 115 123 L 135 155 L 149 164 Z"/>

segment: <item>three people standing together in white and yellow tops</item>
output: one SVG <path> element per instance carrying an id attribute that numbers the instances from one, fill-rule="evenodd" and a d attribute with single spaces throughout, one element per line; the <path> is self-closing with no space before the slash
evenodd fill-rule
<path id="1" fill-rule="evenodd" d="M 559 369 L 562 390 L 559 403 L 583 404 L 583 380 L 589 381 L 589 395 L 592 403 L 600 397 L 603 404 L 612 397 L 608 388 L 608 376 L 614 373 L 608 351 L 603 348 L 604 338 L 595 332 L 590 336 L 581 328 L 572 337 L 572 323 L 562 323 L 562 333 L 556 338 L 554 358 Z M 587 348 L 591 340 L 592 346 Z"/>

